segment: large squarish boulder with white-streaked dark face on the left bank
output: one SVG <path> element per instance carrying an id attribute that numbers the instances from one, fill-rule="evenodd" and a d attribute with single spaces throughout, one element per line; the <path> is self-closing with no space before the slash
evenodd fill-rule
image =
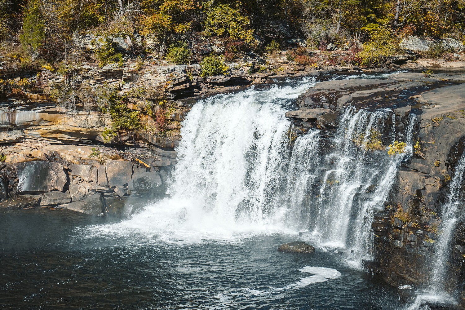
<path id="1" fill-rule="evenodd" d="M 63 191 L 68 181 L 63 165 L 49 161 L 29 161 L 16 164 L 18 193 Z"/>

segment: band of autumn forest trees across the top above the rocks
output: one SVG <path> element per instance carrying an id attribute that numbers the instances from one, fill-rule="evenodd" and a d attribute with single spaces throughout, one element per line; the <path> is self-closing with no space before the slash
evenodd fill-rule
<path id="1" fill-rule="evenodd" d="M 464 22 L 465 0 L 0 0 L 0 45 L 48 61 L 66 59 L 86 32 L 140 34 L 161 56 L 205 37 L 257 51 L 291 39 L 389 50 L 405 35 L 464 42 Z"/>

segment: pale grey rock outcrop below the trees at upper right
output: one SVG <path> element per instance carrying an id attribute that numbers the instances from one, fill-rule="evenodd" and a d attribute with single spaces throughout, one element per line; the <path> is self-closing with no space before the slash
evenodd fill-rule
<path id="1" fill-rule="evenodd" d="M 465 50 L 465 46 L 451 38 L 413 37 L 406 36 L 399 46 L 414 52 L 426 52 L 434 46 L 442 46 L 446 51 L 459 52 Z"/>

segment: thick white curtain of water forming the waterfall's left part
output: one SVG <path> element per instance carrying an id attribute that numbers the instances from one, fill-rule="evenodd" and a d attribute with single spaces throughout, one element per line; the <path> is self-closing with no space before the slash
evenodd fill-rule
<path id="1" fill-rule="evenodd" d="M 170 240 L 285 230 L 288 209 L 282 191 L 290 157 L 285 106 L 311 86 L 306 80 L 297 87 L 249 89 L 198 102 L 183 122 L 171 197 L 122 224 L 170 231 Z M 318 144 L 318 135 L 299 138 L 296 145 L 308 149 L 309 140 Z M 296 154 L 295 163 L 306 160 Z"/>

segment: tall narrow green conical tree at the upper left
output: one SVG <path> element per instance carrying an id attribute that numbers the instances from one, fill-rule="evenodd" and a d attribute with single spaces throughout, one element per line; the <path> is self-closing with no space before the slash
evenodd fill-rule
<path id="1" fill-rule="evenodd" d="M 40 0 L 31 0 L 24 10 L 23 31 L 20 34 L 20 43 L 24 48 L 29 46 L 33 53 L 44 45 L 45 19 L 40 13 Z"/>

